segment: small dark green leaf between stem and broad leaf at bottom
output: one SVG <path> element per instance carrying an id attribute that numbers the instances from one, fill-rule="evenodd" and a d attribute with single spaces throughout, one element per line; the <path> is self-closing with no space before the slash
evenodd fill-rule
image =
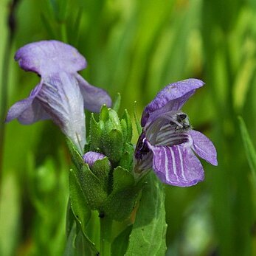
<path id="1" fill-rule="evenodd" d="M 131 234 L 132 225 L 128 226 L 121 232 L 111 244 L 111 255 L 123 256 L 128 247 L 129 235 Z"/>

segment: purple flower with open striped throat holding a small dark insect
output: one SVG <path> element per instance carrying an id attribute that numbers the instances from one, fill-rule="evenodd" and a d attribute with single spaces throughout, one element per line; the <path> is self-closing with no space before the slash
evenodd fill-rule
<path id="1" fill-rule="evenodd" d="M 191 128 L 182 105 L 204 83 L 197 79 L 171 83 L 156 95 L 142 114 L 143 131 L 136 145 L 136 172 L 153 168 L 159 179 L 179 187 L 204 180 L 204 169 L 194 152 L 218 165 L 214 145 Z"/>

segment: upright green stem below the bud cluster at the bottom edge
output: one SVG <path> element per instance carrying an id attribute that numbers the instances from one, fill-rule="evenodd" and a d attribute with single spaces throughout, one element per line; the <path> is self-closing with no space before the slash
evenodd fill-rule
<path id="1" fill-rule="evenodd" d="M 108 217 L 100 218 L 100 255 L 111 256 L 112 220 Z"/>

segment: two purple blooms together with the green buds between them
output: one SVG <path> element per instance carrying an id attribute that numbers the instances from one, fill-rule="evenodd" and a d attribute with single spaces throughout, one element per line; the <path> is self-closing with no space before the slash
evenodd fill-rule
<path id="1" fill-rule="evenodd" d="M 87 145 L 91 152 L 86 153 L 83 160 L 92 167 L 94 162 L 107 156 L 114 166 L 131 170 L 134 148 L 128 114 L 119 120 L 117 113 L 108 109 L 111 106 L 108 94 L 91 86 L 77 73 L 86 68 L 86 60 L 77 49 L 59 41 L 40 41 L 18 49 L 15 60 L 22 69 L 37 73 L 41 80 L 29 97 L 10 108 L 7 122 L 17 118 L 22 124 L 30 124 L 52 119 L 82 156 L 86 145 L 84 108 L 99 112 L 105 104 L 100 122 L 91 119 L 94 128 Z M 210 139 L 194 131 L 187 114 L 181 111 L 184 103 L 203 85 L 197 79 L 171 83 L 145 107 L 142 134 L 134 153 L 135 173 L 152 168 L 162 182 L 186 187 L 204 179 L 203 167 L 195 153 L 210 164 L 218 165 Z"/>

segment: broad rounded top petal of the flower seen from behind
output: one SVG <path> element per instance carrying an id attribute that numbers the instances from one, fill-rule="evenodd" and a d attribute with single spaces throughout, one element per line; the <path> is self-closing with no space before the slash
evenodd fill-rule
<path id="1" fill-rule="evenodd" d="M 86 59 L 74 47 L 60 41 L 39 41 L 27 44 L 15 54 L 19 66 L 41 76 L 59 71 L 75 73 L 86 67 Z"/>

